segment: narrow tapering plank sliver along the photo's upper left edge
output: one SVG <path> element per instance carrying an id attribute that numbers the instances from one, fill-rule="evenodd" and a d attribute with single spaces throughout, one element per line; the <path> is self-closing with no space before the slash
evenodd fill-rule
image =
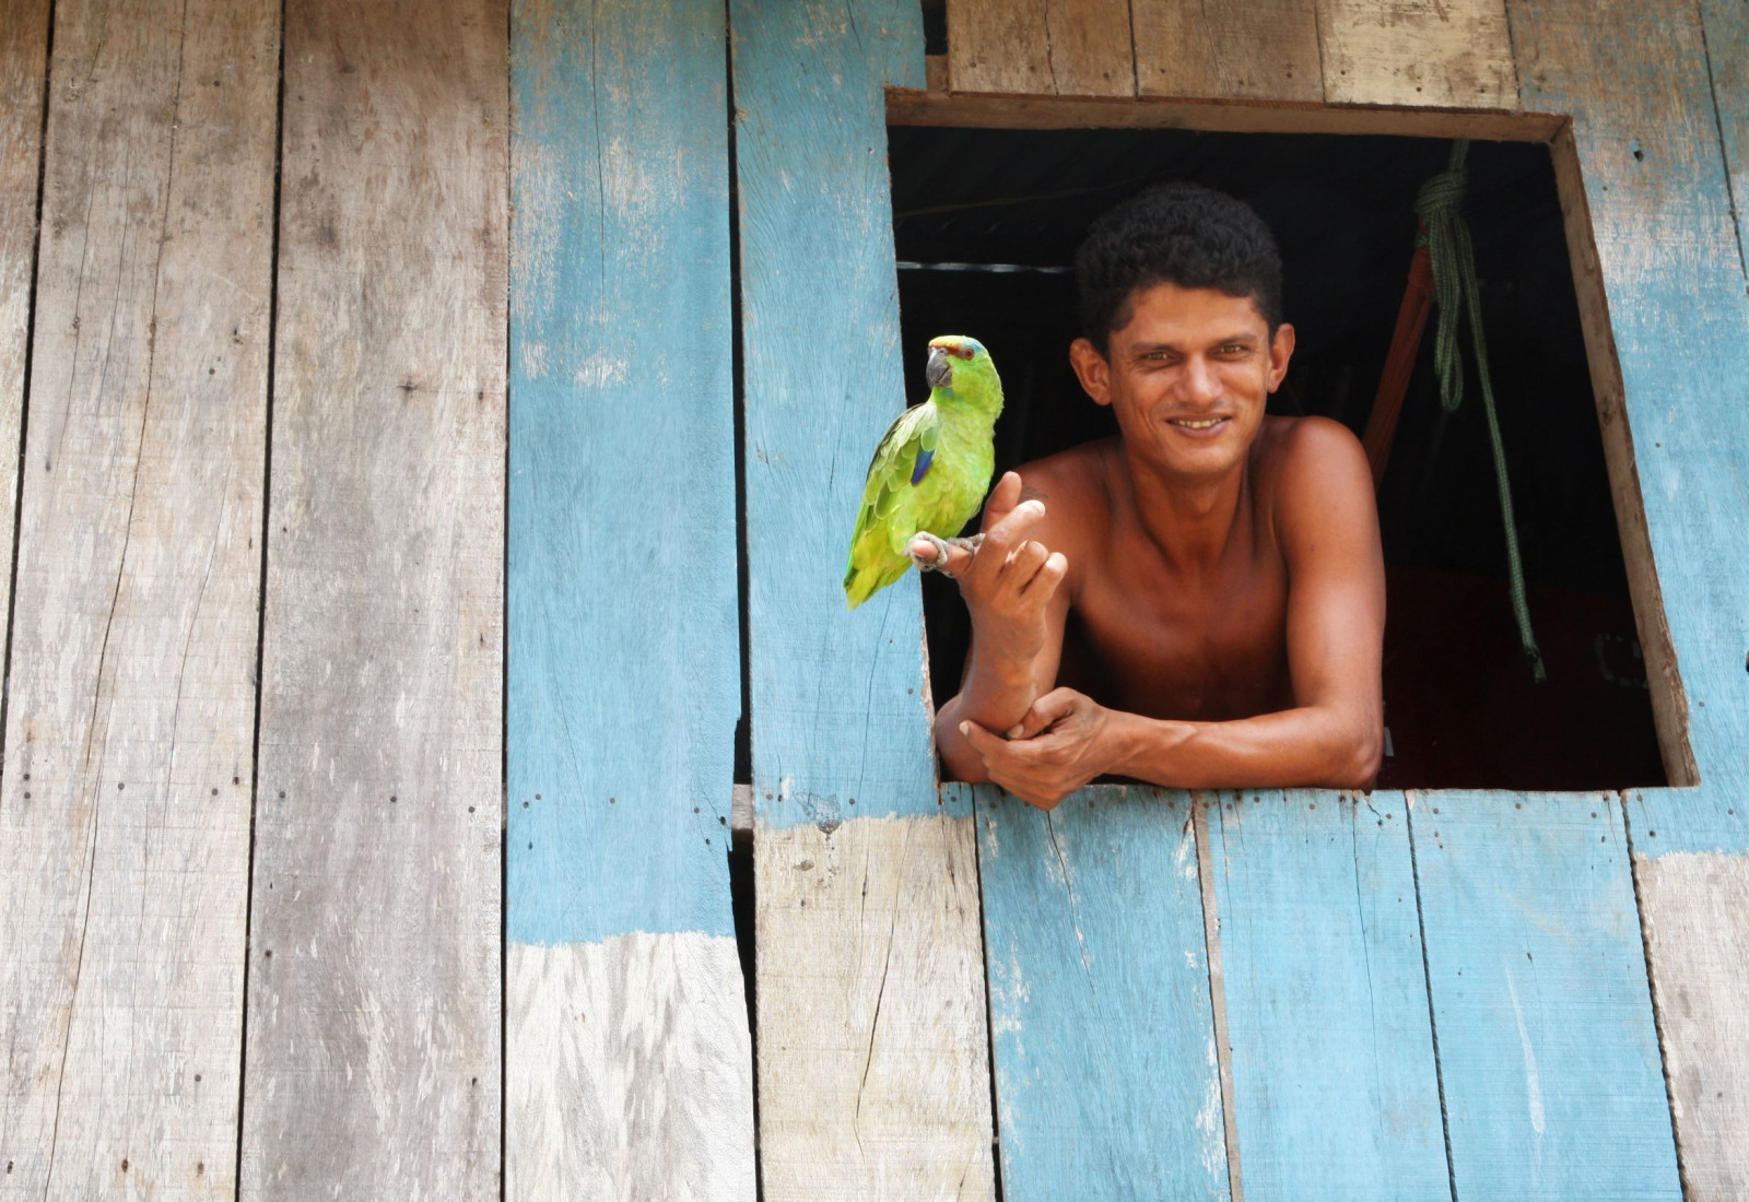
<path id="1" fill-rule="evenodd" d="M 0 0 L 0 563 L 17 524 L 17 442 L 24 414 L 24 351 L 37 266 L 49 0 Z M 0 573 L 0 613 L 12 611 L 12 577 Z M 5 639 L 0 617 L 0 641 Z"/>

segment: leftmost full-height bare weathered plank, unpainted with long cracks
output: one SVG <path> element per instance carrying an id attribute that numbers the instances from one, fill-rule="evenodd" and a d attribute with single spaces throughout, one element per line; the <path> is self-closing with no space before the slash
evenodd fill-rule
<path id="1" fill-rule="evenodd" d="M 0 793 L 0 1193 L 231 1197 L 278 10 L 63 0 L 56 23 Z"/>

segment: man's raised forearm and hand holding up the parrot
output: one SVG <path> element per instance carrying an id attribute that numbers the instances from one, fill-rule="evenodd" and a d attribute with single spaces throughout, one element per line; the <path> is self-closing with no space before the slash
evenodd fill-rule
<path id="1" fill-rule="evenodd" d="M 1056 680 L 1063 648 L 1069 594 L 1058 585 L 1069 561 L 1032 538 L 1042 533 L 1044 500 L 1021 496 L 1020 475 L 1004 473 L 985 507 L 983 547 L 948 554 L 948 575 L 958 580 L 972 615 L 972 650 L 958 695 L 936 715 L 936 744 L 962 781 L 988 774 L 960 723 L 988 730 L 1018 725 Z M 913 554 L 929 559 L 932 547 L 918 543 Z"/>

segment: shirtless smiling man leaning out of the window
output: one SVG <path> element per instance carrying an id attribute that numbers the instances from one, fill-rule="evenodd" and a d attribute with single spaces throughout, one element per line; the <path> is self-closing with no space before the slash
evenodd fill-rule
<path id="1" fill-rule="evenodd" d="M 1102 774 L 1368 786 L 1385 624 L 1371 473 L 1345 426 L 1265 416 L 1294 349 L 1268 227 L 1170 185 L 1095 222 L 1076 274 L 1086 337 L 1069 356 L 1121 433 L 1006 473 L 983 545 L 941 564 L 972 618 L 943 760 L 1044 809 Z"/>

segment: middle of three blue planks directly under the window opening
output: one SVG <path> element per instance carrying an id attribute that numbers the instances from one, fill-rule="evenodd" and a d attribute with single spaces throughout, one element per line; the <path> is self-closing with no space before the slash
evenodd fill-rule
<path id="1" fill-rule="evenodd" d="M 1403 797 L 1214 793 L 1207 830 L 1245 1197 L 1443 1195 Z"/>

